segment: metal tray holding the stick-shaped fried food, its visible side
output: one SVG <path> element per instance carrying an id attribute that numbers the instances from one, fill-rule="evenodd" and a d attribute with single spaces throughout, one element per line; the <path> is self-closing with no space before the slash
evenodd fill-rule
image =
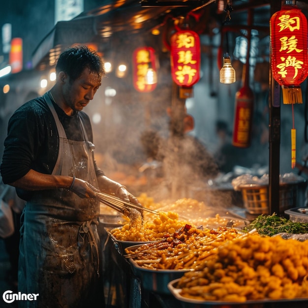
<path id="1" fill-rule="evenodd" d="M 139 246 L 139 245 L 138 245 Z M 128 259 L 133 274 L 141 281 L 142 287 L 150 292 L 170 295 L 168 283 L 181 278 L 189 270 L 151 270 L 139 266 L 133 259 Z"/>

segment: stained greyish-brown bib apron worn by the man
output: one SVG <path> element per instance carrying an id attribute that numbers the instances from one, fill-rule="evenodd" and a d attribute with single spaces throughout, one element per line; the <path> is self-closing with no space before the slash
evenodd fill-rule
<path id="1" fill-rule="evenodd" d="M 44 99 L 57 124 L 59 154 L 53 175 L 75 176 L 97 187 L 94 145 L 79 118 L 84 141 L 66 138 L 48 93 Z M 78 116 L 79 117 L 79 116 Z M 19 307 L 83 308 L 97 304 L 99 202 L 68 189 L 35 191 L 22 214 L 18 288 L 39 294 Z M 100 307 L 103 307 L 103 299 Z"/>

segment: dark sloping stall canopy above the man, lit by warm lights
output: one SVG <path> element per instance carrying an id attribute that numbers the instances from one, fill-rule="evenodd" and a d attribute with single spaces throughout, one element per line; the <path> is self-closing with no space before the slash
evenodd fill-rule
<path id="1" fill-rule="evenodd" d="M 200 18 L 198 22 L 205 31 L 210 16 L 224 20 L 224 9 L 218 12 L 218 5 L 224 8 L 228 3 L 232 4 L 232 23 L 245 24 L 247 10 L 253 8 L 254 23 L 269 26 L 269 0 L 109 1 L 70 21 L 58 22 L 34 50 L 32 66 L 44 70 L 54 65 L 62 50 L 72 44 L 99 42 L 108 45 L 119 35 L 131 40 L 133 36 L 150 33 L 155 27 L 163 25 L 167 17 L 179 18 L 189 12 Z"/>

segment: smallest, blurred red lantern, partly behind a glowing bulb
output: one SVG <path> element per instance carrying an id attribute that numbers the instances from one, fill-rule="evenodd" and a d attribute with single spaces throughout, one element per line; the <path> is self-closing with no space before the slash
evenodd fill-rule
<path id="1" fill-rule="evenodd" d="M 133 84 L 138 92 L 152 92 L 157 85 L 157 80 L 149 84 L 146 76 L 149 69 L 156 74 L 155 51 L 152 47 L 139 47 L 133 52 Z"/>

